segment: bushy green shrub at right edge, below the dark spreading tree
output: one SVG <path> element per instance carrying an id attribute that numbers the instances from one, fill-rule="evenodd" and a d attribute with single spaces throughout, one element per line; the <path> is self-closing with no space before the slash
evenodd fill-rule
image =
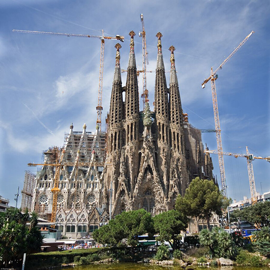
<path id="1" fill-rule="evenodd" d="M 254 250 L 270 258 L 270 227 L 262 227 L 261 230 L 254 232 L 254 235 Z"/>

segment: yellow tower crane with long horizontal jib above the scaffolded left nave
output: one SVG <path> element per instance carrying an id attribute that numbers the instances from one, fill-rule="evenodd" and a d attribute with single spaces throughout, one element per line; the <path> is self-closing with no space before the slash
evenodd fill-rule
<path id="1" fill-rule="evenodd" d="M 106 37 L 104 36 L 104 30 L 102 31 L 101 36 L 95 35 L 79 35 L 79 34 L 66 34 L 66 33 L 53 33 L 53 32 L 40 32 L 40 31 L 29 31 L 29 30 L 15 30 L 13 29 L 12 32 L 16 33 L 30 33 L 30 34 L 39 34 L 39 35 L 55 35 L 55 36 L 66 36 L 66 37 L 77 37 L 77 38 L 98 38 L 101 40 L 101 49 L 100 49 L 100 66 L 99 66 L 99 84 L 98 84 L 98 106 L 97 109 L 97 131 L 101 130 L 101 111 L 102 108 L 102 83 L 103 83 L 103 64 L 104 64 L 104 49 L 105 49 L 105 40 L 112 39 L 112 40 L 120 40 L 124 42 L 125 37 L 116 35 L 115 37 Z"/>

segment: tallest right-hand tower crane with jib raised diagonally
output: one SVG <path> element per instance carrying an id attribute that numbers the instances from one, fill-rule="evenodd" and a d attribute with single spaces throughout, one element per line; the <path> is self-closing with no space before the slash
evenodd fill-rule
<path id="1" fill-rule="evenodd" d="M 221 192 L 223 196 L 227 197 L 227 187 L 226 187 L 226 178 L 225 178 L 225 169 L 224 169 L 224 161 L 223 161 L 223 150 L 222 150 L 222 142 L 221 142 L 221 133 L 220 133 L 220 123 L 219 123 L 219 116 L 218 116 L 218 108 L 217 108 L 217 92 L 216 92 L 216 85 L 215 80 L 218 78 L 217 71 L 222 69 L 224 64 L 238 51 L 238 49 L 243 46 L 243 44 L 250 38 L 250 36 L 254 33 L 254 31 L 250 32 L 243 41 L 233 50 L 233 52 L 222 62 L 222 64 L 213 71 L 213 67 L 211 67 L 210 76 L 202 82 L 202 88 L 205 88 L 205 84 L 208 81 L 211 81 L 211 90 L 212 90 L 212 99 L 213 99 L 213 108 L 214 108 L 214 121 L 215 121 L 215 130 L 217 136 L 217 154 L 218 154 L 218 162 L 219 162 L 219 169 L 220 169 L 220 180 L 221 180 Z"/>

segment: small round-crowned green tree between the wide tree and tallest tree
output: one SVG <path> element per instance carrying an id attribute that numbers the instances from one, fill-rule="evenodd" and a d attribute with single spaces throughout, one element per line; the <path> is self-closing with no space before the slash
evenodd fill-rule
<path id="1" fill-rule="evenodd" d="M 187 228 L 188 218 L 176 210 L 162 212 L 154 217 L 154 228 L 159 236 L 158 241 L 168 241 L 173 250 L 181 245 L 180 232 Z"/>

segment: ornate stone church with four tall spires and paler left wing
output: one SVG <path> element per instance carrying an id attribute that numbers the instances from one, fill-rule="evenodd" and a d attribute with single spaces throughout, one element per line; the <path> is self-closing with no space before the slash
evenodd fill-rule
<path id="1" fill-rule="evenodd" d="M 122 86 L 120 44 L 107 119 L 107 132 L 70 132 L 65 136 L 63 166 L 59 175 L 57 226 L 70 237 L 85 236 L 109 216 L 144 208 L 152 215 L 174 208 L 190 181 L 199 176 L 216 183 L 209 154 L 204 154 L 201 132 L 183 119 L 173 46 L 170 46 L 170 82 L 167 87 L 161 37 L 155 77 L 154 111 L 146 98 L 139 110 L 134 36 L 128 60 L 126 85 Z M 123 101 L 125 92 L 125 101 Z M 106 138 L 106 139 L 105 139 Z M 50 164 L 62 149 L 45 152 Z M 106 161 L 105 161 L 106 159 Z M 76 165 L 76 161 L 81 165 Z M 105 165 L 102 162 L 105 161 Z M 84 165 L 85 162 L 87 165 Z M 72 166 L 73 165 L 73 166 Z M 32 208 L 49 217 L 54 186 L 53 166 L 43 166 L 36 176 Z"/>

